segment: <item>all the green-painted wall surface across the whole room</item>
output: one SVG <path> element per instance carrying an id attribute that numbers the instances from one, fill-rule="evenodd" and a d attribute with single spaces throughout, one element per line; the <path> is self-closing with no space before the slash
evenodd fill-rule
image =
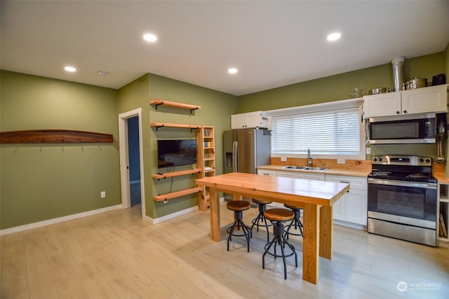
<path id="1" fill-rule="evenodd" d="M 449 74 L 449 45 L 442 53 L 406 60 L 406 80 Z M 114 144 L 1 144 L 0 229 L 91 211 L 121 203 L 118 114 L 142 108 L 143 164 L 146 214 L 158 218 L 194 207 L 196 195 L 154 202 L 153 195 L 170 190 L 171 181 L 152 179 L 156 168 L 156 140 L 194 138 L 184 129 L 156 130 L 149 123 L 213 125 L 217 174 L 222 173 L 222 132 L 230 129 L 230 115 L 280 109 L 349 98 L 358 86 L 369 90 L 391 86 L 391 64 L 351 71 L 236 97 L 222 92 L 146 74 L 119 90 L 51 78 L 1 71 L 0 130 L 67 129 L 114 134 Z M 448 81 L 449 78 L 446 78 Z M 159 98 L 197 104 L 189 111 L 149 105 Z M 373 154 L 413 153 L 436 157 L 435 145 L 371 146 Z M 446 153 L 449 148 L 445 146 Z M 367 156 L 369 159 L 370 156 Z M 447 158 L 447 157 L 446 157 Z M 194 178 L 173 179 L 173 190 L 193 186 Z M 100 199 L 105 190 L 107 197 Z"/>

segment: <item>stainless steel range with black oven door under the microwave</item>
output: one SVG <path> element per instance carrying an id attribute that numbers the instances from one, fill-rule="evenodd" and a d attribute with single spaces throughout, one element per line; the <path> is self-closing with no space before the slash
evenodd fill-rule
<path id="1" fill-rule="evenodd" d="M 432 160 L 373 156 L 368 175 L 368 232 L 436 246 L 436 179 Z"/>

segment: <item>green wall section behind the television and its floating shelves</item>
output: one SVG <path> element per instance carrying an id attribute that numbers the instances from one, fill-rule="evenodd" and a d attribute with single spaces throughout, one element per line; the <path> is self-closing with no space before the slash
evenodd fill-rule
<path id="1" fill-rule="evenodd" d="M 149 105 L 150 99 L 165 99 L 171 102 L 195 104 L 201 109 L 190 113 L 188 110 Z M 196 206 L 197 195 L 169 200 L 168 203 L 156 202 L 153 195 L 194 186 L 195 176 L 176 176 L 158 181 L 152 174 L 163 172 L 156 166 L 157 139 L 194 139 L 196 132 L 180 128 L 161 128 L 156 131 L 150 123 L 180 123 L 190 125 L 212 125 L 215 127 L 215 158 L 217 174 L 222 173 L 222 132 L 230 130 L 230 115 L 236 113 L 237 97 L 217 92 L 197 85 L 176 81 L 163 76 L 147 74 L 119 90 L 119 113 L 142 108 L 143 123 L 143 165 L 145 176 L 146 214 L 159 218 L 167 214 Z M 186 167 L 189 168 L 189 167 Z M 177 170 L 182 167 L 177 167 Z M 165 169 L 166 170 L 166 169 Z"/>

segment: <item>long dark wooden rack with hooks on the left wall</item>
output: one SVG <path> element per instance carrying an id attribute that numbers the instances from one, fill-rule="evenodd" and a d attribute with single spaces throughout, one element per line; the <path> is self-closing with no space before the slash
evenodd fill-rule
<path id="1" fill-rule="evenodd" d="M 75 130 L 25 130 L 0 132 L 1 144 L 112 143 L 112 134 Z"/>

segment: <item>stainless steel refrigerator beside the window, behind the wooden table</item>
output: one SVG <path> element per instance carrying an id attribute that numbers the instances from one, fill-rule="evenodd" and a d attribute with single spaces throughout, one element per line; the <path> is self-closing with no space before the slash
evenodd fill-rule
<path id="1" fill-rule="evenodd" d="M 257 174 L 257 167 L 270 163 L 270 131 L 241 129 L 223 133 L 224 172 Z M 225 194 L 226 200 L 232 195 Z M 245 198 L 245 200 L 249 200 Z"/>

